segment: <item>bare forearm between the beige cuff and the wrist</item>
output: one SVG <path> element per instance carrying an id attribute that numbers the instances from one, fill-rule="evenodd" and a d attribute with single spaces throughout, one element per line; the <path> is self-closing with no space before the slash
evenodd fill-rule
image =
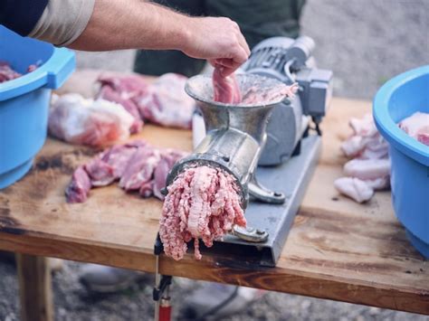
<path id="1" fill-rule="evenodd" d="M 96 0 L 89 24 L 69 47 L 84 51 L 184 50 L 193 19 L 147 1 Z"/>

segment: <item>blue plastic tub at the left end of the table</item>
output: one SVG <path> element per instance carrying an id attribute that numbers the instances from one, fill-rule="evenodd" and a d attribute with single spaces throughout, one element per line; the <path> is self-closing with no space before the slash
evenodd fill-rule
<path id="1" fill-rule="evenodd" d="M 0 25 L 0 61 L 25 73 L 0 83 L 0 189 L 13 184 L 30 169 L 42 148 L 48 127 L 51 90 L 59 88 L 74 71 L 74 53 L 52 44 L 24 38 Z"/>

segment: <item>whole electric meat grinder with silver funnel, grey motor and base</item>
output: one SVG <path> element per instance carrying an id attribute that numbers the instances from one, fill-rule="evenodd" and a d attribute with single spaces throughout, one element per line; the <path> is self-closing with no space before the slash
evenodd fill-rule
<path id="1" fill-rule="evenodd" d="M 280 257 L 319 160 L 319 123 L 329 105 L 332 72 L 311 66 L 313 48 L 309 37 L 267 39 L 236 74 L 242 93 L 297 82 L 293 99 L 231 106 L 213 101 L 211 77 L 198 75 L 186 84 L 202 118 L 198 113 L 194 118 L 193 154 L 175 165 L 167 185 L 189 166 L 217 166 L 234 175 L 248 228 L 235 227 L 215 247 L 226 252 L 238 247 L 265 266 L 275 266 Z"/>

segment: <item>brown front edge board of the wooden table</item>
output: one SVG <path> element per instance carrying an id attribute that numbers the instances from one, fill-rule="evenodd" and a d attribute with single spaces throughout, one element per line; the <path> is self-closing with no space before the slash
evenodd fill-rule
<path id="1" fill-rule="evenodd" d="M 34 256 L 98 263 L 117 268 L 153 273 L 155 256 L 148 250 L 129 247 L 107 248 L 100 244 L 84 244 L 77 240 L 48 240 L 41 236 L 0 232 L 0 250 L 10 250 Z M 389 308 L 429 315 L 429 293 L 406 288 L 373 285 L 368 281 L 356 284 L 350 279 L 334 276 L 314 276 L 310 272 L 281 268 L 245 269 L 240 264 L 219 263 L 210 255 L 199 262 L 204 269 L 195 269 L 195 260 L 172 261 L 161 256 L 160 272 L 187 279 L 201 279 L 251 288 L 319 297 L 353 304 Z M 256 281 L 254 279 L 257 279 Z"/>

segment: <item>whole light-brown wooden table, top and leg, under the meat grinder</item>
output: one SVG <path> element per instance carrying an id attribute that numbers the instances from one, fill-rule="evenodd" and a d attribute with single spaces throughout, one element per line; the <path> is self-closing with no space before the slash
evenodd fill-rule
<path id="1" fill-rule="evenodd" d="M 367 101 L 333 99 L 322 126 L 319 166 L 276 268 L 254 265 L 238 253 L 203 250 L 200 261 L 192 254 L 180 261 L 162 256 L 160 272 L 429 314 L 429 265 L 396 221 L 390 193 L 357 204 L 332 184 L 346 161 L 338 147 L 349 134 L 348 118 L 369 110 Z M 156 146 L 191 148 L 185 130 L 146 126 L 141 137 Z M 91 155 L 88 148 L 48 139 L 31 173 L 0 192 L 0 249 L 23 253 L 18 263 L 24 320 L 52 316 L 50 277 L 41 257 L 154 272 L 159 201 L 111 185 L 92 190 L 87 203 L 65 203 L 73 168 Z"/>

